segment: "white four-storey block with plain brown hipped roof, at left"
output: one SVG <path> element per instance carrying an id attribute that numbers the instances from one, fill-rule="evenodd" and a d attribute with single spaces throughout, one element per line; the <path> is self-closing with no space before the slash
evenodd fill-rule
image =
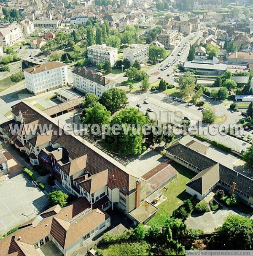
<path id="1" fill-rule="evenodd" d="M 68 82 L 67 65 L 53 61 L 26 68 L 24 79 L 27 90 L 35 95 L 62 87 Z"/>

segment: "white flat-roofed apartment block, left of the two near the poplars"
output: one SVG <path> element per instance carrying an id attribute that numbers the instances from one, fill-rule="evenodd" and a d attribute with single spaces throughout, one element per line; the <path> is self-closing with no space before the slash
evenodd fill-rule
<path id="1" fill-rule="evenodd" d="M 118 49 L 106 46 L 106 44 L 94 44 L 87 47 L 88 58 L 93 63 L 109 61 L 112 66 L 118 60 Z"/>

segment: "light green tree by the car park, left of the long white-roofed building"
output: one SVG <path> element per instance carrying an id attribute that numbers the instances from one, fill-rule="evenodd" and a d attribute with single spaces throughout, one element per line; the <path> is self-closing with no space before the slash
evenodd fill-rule
<path id="1" fill-rule="evenodd" d="M 188 96 L 193 92 L 196 85 L 196 77 L 191 72 L 187 71 L 178 78 L 178 87 L 184 96 Z"/>

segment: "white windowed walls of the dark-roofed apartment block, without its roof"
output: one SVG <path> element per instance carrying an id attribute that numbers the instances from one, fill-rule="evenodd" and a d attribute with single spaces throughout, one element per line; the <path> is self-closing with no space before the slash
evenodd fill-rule
<path id="1" fill-rule="evenodd" d="M 98 74 L 94 74 L 94 75 L 100 76 Z M 100 77 L 103 78 L 103 76 L 100 76 Z M 108 80 L 108 79 L 105 79 L 105 80 Z M 115 85 L 116 83 L 114 81 L 108 80 L 108 83 L 105 83 L 105 85 L 102 85 L 92 81 L 92 79 L 83 77 L 81 74 L 79 75 L 79 74 L 73 73 L 73 87 L 75 87 L 77 90 L 80 90 L 83 93 L 93 93 L 98 97 L 101 97 L 103 92 L 105 92 L 110 88 L 114 88 Z"/>

